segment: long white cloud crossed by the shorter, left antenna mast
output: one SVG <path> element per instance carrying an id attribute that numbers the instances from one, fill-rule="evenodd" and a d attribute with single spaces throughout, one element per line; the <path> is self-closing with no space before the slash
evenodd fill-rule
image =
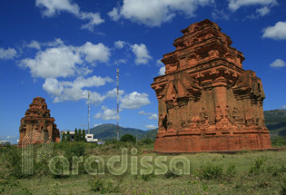
<path id="1" fill-rule="evenodd" d="M 54 96 L 54 102 L 64 101 L 78 101 L 81 99 L 87 99 L 88 91 L 84 90 L 85 87 L 99 87 L 106 83 L 113 82 L 109 77 L 102 78 L 100 76 L 93 76 L 87 79 L 78 77 L 74 82 L 58 81 L 54 78 L 46 79 L 43 84 L 45 92 Z M 91 93 L 91 102 L 98 104 L 104 102 L 108 96 L 101 95 L 100 93 Z"/>

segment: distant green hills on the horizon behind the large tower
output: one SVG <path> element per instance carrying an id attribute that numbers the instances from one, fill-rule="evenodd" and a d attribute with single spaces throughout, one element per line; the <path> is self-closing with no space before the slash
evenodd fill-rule
<path id="1" fill-rule="evenodd" d="M 265 124 L 271 132 L 271 138 L 277 136 L 286 136 L 286 110 L 273 110 L 264 111 Z M 149 131 L 143 131 L 134 128 L 119 127 L 120 136 L 124 134 L 133 134 L 137 136 L 138 140 L 143 138 L 155 139 L 158 129 Z M 112 140 L 116 139 L 117 126 L 115 124 L 102 124 L 91 129 L 91 133 L 94 133 L 94 137 L 100 140 Z"/>

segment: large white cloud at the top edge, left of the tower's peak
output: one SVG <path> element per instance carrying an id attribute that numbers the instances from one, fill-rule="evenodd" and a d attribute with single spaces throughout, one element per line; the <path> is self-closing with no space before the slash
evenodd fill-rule
<path id="1" fill-rule="evenodd" d="M 123 5 L 114 7 L 108 15 L 118 21 L 120 18 L 148 26 L 160 26 L 177 14 L 194 16 L 199 6 L 210 5 L 213 0 L 123 0 Z"/>

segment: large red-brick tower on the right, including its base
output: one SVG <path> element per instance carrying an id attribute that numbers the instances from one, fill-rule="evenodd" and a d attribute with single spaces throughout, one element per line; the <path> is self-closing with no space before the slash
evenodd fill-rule
<path id="1" fill-rule="evenodd" d="M 159 107 L 155 151 L 238 151 L 271 148 L 261 79 L 242 69 L 243 54 L 206 19 L 183 29 L 164 54 L 165 74 L 152 88 Z"/>

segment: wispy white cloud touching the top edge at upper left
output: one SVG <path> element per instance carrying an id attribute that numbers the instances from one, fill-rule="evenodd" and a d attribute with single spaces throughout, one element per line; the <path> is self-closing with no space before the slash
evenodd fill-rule
<path id="1" fill-rule="evenodd" d="M 36 0 L 35 5 L 42 9 L 42 14 L 47 17 L 58 15 L 61 12 L 68 12 L 81 20 L 88 20 L 81 28 L 94 30 L 94 25 L 104 23 L 99 13 L 81 12 L 80 7 L 71 0 Z"/>

